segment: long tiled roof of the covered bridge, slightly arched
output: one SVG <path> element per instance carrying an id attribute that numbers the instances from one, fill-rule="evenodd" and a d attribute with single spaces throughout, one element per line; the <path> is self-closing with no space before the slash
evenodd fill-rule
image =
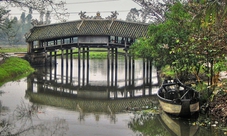
<path id="1" fill-rule="evenodd" d="M 120 20 L 77 20 L 65 23 L 34 26 L 27 42 L 59 39 L 81 35 L 108 35 L 128 38 L 146 37 L 149 24 Z"/>

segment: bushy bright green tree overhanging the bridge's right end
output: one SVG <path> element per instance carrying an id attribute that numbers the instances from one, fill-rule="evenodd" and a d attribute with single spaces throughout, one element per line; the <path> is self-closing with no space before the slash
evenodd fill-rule
<path id="1" fill-rule="evenodd" d="M 153 59 L 158 68 L 171 66 L 179 78 L 188 77 L 188 71 L 194 69 L 198 60 L 188 44 L 191 15 L 186 6 L 178 2 L 165 13 L 165 18 L 163 23 L 150 25 L 149 38 L 138 40 L 132 46 L 132 52 Z"/>

